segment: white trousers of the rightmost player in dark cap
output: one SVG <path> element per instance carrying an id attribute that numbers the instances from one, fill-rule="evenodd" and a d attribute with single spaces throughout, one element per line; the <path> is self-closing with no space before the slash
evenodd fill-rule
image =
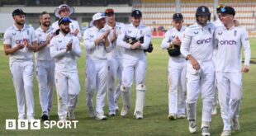
<path id="1" fill-rule="evenodd" d="M 239 105 L 243 96 L 242 73 L 216 73 L 224 130 L 231 129 L 231 120 L 239 117 Z"/>

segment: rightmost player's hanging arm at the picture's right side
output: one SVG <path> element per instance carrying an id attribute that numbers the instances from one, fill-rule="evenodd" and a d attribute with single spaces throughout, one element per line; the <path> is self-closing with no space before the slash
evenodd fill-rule
<path id="1" fill-rule="evenodd" d="M 244 48 L 244 66 L 242 68 L 242 72 L 248 73 L 249 72 L 249 61 L 251 59 L 251 48 L 249 45 L 249 35 L 244 28 L 244 32 L 242 34 L 242 45 Z"/>

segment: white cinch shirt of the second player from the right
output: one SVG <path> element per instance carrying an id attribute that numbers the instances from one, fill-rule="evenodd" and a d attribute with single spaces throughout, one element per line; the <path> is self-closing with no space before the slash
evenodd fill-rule
<path id="1" fill-rule="evenodd" d="M 215 29 L 212 23 L 203 27 L 197 23 L 187 27 L 181 45 L 183 56 L 187 58 L 187 55 L 191 54 L 197 61 L 211 61 Z"/>

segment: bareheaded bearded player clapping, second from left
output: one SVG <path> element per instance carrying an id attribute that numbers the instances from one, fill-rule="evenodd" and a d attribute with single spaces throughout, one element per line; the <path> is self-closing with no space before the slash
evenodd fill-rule
<path id="1" fill-rule="evenodd" d="M 50 27 L 50 14 L 41 12 L 40 26 L 36 29 L 38 47 L 35 62 L 42 120 L 49 119 L 55 85 L 55 61 L 50 57 L 50 39 L 52 36 L 53 28 Z"/>

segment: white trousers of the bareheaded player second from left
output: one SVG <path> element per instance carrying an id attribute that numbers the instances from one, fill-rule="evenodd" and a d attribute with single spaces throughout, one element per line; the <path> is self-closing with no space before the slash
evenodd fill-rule
<path id="1" fill-rule="evenodd" d="M 42 114 L 49 115 L 52 108 L 55 86 L 55 61 L 36 60 L 36 79 L 39 87 L 39 99 Z"/>

